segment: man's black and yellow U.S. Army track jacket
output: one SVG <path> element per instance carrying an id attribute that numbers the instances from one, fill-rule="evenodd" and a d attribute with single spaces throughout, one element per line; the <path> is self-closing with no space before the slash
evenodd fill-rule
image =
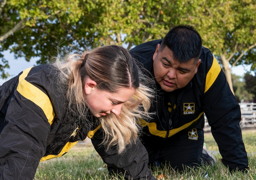
<path id="1" fill-rule="evenodd" d="M 152 57 L 161 41 L 149 41 L 130 50 L 130 54 L 153 77 Z M 222 155 L 222 163 L 230 170 L 245 170 L 248 158 L 239 126 L 240 106 L 210 50 L 203 47 L 200 59 L 198 71 L 186 87 L 164 92 L 158 85 L 158 96 L 150 109 L 157 114 L 152 120 L 140 121 L 146 134 L 142 141 L 154 145 L 154 142 L 175 138 L 183 130 L 203 128 L 205 113 Z"/>

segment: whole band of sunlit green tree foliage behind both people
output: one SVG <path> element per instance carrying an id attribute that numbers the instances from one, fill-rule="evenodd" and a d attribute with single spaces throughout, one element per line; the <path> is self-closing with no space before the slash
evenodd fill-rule
<path id="1" fill-rule="evenodd" d="M 130 49 L 163 38 L 175 25 L 191 24 L 222 62 L 232 89 L 231 68 L 255 62 L 255 9 L 256 0 L 2 0 L 0 72 L 8 67 L 1 54 L 7 49 L 45 63 L 63 47 Z"/>

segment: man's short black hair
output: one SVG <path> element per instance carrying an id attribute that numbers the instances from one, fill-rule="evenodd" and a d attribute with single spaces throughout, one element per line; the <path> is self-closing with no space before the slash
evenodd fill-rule
<path id="1" fill-rule="evenodd" d="M 173 58 L 180 63 L 192 58 L 197 61 L 201 54 L 202 39 L 200 34 L 190 25 L 178 25 L 164 37 L 160 51 L 167 46 L 173 52 Z"/>

